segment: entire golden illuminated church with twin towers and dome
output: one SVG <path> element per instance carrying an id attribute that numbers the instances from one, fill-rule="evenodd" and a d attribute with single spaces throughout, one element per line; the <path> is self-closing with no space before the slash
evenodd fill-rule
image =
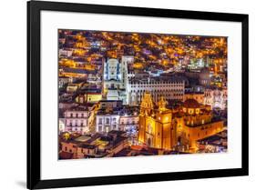
<path id="1" fill-rule="evenodd" d="M 144 94 L 138 125 L 140 144 L 195 152 L 198 140 L 223 130 L 223 121 L 212 118 L 208 105 L 200 105 L 194 99 L 186 100 L 177 108 L 169 109 L 167 105 L 163 97 L 155 104 L 148 92 Z"/>

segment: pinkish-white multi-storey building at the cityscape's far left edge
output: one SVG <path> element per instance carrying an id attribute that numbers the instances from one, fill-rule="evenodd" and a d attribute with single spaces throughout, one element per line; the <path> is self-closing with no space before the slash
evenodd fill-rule
<path id="1" fill-rule="evenodd" d="M 64 113 L 64 116 L 66 119 L 65 131 L 77 132 L 80 134 L 88 132 L 89 111 L 87 109 L 81 107 L 70 109 Z"/>

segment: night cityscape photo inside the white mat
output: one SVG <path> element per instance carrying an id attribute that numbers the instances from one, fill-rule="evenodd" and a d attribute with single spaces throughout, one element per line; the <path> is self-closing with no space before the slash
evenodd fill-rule
<path id="1" fill-rule="evenodd" d="M 58 156 L 228 152 L 228 38 L 58 30 Z"/>

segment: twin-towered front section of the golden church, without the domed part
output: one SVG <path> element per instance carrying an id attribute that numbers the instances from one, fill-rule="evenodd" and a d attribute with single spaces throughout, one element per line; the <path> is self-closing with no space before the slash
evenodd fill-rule
<path id="1" fill-rule="evenodd" d="M 176 145 L 176 130 L 172 127 L 172 112 L 161 97 L 158 108 L 154 108 L 151 95 L 142 98 L 139 114 L 138 142 L 149 147 L 171 150 Z"/>

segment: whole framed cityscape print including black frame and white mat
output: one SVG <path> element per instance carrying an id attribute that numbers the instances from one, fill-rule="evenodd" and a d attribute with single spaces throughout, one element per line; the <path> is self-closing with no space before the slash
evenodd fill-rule
<path id="1" fill-rule="evenodd" d="M 27 3 L 27 188 L 249 174 L 248 15 Z"/>

